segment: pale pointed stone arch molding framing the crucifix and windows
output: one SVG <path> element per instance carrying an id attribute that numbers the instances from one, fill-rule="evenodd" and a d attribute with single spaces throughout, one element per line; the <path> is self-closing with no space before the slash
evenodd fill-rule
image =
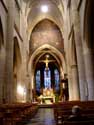
<path id="1" fill-rule="evenodd" d="M 59 59 L 61 60 L 62 63 L 62 67 L 64 72 L 66 72 L 66 61 L 65 61 L 65 57 L 64 55 L 57 50 L 56 48 L 54 48 L 53 46 L 49 45 L 49 44 L 44 44 L 43 46 L 39 47 L 30 57 L 29 62 L 28 62 L 28 73 L 31 75 L 32 74 L 32 70 L 33 70 L 33 60 L 35 59 L 35 57 L 39 54 L 40 51 L 42 51 L 43 49 L 50 49 L 55 55 L 57 55 L 59 57 Z"/>

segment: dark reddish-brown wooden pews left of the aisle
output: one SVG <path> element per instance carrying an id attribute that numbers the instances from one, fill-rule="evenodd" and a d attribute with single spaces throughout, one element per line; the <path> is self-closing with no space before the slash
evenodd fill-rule
<path id="1" fill-rule="evenodd" d="M 17 125 L 32 118 L 37 110 L 37 103 L 1 104 L 0 125 Z"/>

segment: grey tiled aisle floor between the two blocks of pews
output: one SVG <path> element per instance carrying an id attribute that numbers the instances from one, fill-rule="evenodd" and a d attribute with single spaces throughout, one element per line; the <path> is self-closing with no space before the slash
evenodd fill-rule
<path id="1" fill-rule="evenodd" d="M 52 108 L 40 108 L 26 125 L 55 125 L 53 109 Z"/>

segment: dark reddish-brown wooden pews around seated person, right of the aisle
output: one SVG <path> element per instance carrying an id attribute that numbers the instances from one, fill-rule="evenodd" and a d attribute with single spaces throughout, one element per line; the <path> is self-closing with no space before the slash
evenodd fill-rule
<path id="1" fill-rule="evenodd" d="M 74 105 L 81 107 L 83 116 L 88 116 L 88 119 L 94 119 L 94 101 L 66 101 L 53 104 L 54 118 L 56 124 L 62 124 L 69 115 L 71 115 L 71 109 Z"/>

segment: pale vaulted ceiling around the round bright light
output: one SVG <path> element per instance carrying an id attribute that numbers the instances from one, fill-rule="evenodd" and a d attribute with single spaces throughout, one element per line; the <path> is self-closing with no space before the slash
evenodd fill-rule
<path id="1" fill-rule="evenodd" d="M 63 32 L 63 2 L 62 0 L 24 0 L 26 3 L 26 16 L 29 33 L 32 32 L 33 27 L 41 20 L 48 18 L 55 22 Z M 47 5 L 48 12 L 43 13 L 41 6 Z M 30 34 L 29 34 L 30 35 Z"/>

